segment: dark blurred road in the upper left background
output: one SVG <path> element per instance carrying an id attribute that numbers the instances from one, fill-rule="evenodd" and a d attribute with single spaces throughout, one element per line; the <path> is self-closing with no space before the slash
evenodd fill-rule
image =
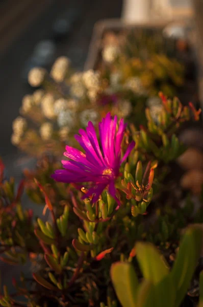
<path id="1" fill-rule="evenodd" d="M 0 3 L 0 156 L 9 168 L 13 168 L 12 161 L 18 156 L 10 143 L 12 121 L 18 116 L 22 97 L 32 91 L 23 84 L 21 71 L 36 43 L 52 37 L 57 16 L 68 9 L 78 9 L 81 17 L 68 39 L 58 43 L 56 57 L 66 55 L 77 69 L 83 69 L 94 23 L 119 17 L 121 5 L 122 0 L 7 0 Z"/>

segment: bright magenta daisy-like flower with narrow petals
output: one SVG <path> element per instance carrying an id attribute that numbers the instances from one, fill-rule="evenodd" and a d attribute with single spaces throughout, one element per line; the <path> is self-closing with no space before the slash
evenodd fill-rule
<path id="1" fill-rule="evenodd" d="M 121 158 L 121 142 L 126 124 L 123 119 L 117 125 L 117 116 L 111 118 L 110 113 L 99 123 L 99 142 L 92 122 L 89 121 L 86 131 L 79 130 L 75 139 L 79 142 L 85 153 L 70 146 L 66 146 L 66 156 L 69 160 L 62 160 L 65 169 L 56 170 L 52 175 L 56 181 L 65 183 L 88 183 L 87 194 L 84 198 L 92 195 L 92 203 L 96 202 L 104 189 L 119 203 L 116 196 L 115 181 L 119 176 L 121 163 L 129 156 L 135 146 L 133 141 Z"/>

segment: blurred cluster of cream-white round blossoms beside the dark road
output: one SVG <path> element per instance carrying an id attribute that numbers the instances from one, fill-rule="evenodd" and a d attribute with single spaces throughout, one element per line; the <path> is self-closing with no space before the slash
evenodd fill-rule
<path id="1" fill-rule="evenodd" d="M 72 144 L 79 128 L 99 119 L 95 107 L 99 73 L 73 72 L 70 60 L 60 57 L 49 74 L 42 68 L 32 69 L 28 81 L 37 89 L 22 99 L 11 142 L 32 156 L 47 150 L 61 155 L 64 142 Z"/>

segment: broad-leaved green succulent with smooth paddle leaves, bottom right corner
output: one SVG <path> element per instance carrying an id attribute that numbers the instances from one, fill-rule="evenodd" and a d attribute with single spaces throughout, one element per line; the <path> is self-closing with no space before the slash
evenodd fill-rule
<path id="1" fill-rule="evenodd" d="M 135 253 L 143 275 L 140 282 L 129 261 L 116 262 L 111 267 L 111 278 L 122 306 L 180 306 L 201 249 L 202 225 L 194 224 L 186 230 L 169 271 L 166 260 L 153 245 L 137 243 Z"/>

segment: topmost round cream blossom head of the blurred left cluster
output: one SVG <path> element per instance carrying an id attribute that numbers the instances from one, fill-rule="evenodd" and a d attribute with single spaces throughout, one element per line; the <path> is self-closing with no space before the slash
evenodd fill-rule
<path id="1" fill-rule="evenodd" d="M 65 57 L 59 57 L 50 71 L 50 76 L 57 82 L 62 82 L 65 78 L 66 72 L 68 70 L 70 60 Z"/>

